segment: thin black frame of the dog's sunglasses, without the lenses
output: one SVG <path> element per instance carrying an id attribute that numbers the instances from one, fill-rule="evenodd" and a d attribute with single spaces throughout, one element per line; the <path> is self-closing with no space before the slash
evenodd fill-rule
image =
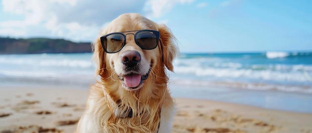
<path id="1" fill-rule="evenodd" d="M 125 32 L 134 32 L 134 31 L 137 31 L 135 34 L 134 33 L 128 33 L 128 34 L 124 34 Z M 153 32 L 156 34 L 156 46 L 151 48 L 151 49 L 146 49 L 146 48 L 143 48 L 143 46 L 140 46 L 139 43 L 137 42 L 137 34 L 140 33 L 140 32 L 144 32 L 144 31 L 150 31 L 150 32 Z M 121 46 L 120 50 L 116 51 L 116 52 L 108 52 L 104 46 L 104 41 L 106 39 L 106 37 L 108 37 L 109 35 L 113 35 L 113 34 L 120 34 L 120 35 L 123 35 L 125 40 L 124 40 L 124 43 L 123 45 Z M 132 31 L 123 31 L 123 32 L 114 32 L 114 33 L 109 33 L 109 34 L 106 34 L 102 37 L 100 37 L 100 40 L 101 40 L 101 45 L 102 45 L 102 48 L 104 49 L 104 51 L 106 53 L 117 53 L 119 51 L 121 51 L 125 45 L 126 45 L 126 41 L 127 41 L 127 38 L 126 36 L 129 35 L 129 34 L 133 34 L 134 35 L 134 38 L 135 38 L 135 41 L 136 41 L 136 44 L 141 48 L 141 49 L 144 49 L 144 50 L 153 50 L 157 47 L 157 44 L 158 44 L 158 41 L 159 41 L 159 31 L 156 31 L 156 30 L 132 30 Z"/>

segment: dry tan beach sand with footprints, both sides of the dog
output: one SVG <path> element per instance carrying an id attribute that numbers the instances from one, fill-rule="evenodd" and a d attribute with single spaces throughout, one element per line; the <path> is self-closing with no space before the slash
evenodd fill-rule
<path id="1" fill-rule="evenodd" d="M 0 133 L 72 133 L 88 91 L 0 89 Z M 312 133 L 312 114 L 208 100 L 175 98 L 172 133 Z"/>

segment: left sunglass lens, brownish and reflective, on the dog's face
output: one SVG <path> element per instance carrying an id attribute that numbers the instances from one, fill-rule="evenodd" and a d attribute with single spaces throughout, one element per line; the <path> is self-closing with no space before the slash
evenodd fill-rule
<path id="1" fill-rule="evenodd" d="M 107 52 L 117 52 L 122 49 L 125 42 L 125 37 L 122 34 L 112 34 L 105 38 L 104 47 Z"/>

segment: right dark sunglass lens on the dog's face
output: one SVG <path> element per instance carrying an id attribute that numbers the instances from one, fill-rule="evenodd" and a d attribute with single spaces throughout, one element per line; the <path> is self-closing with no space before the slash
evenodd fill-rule
<path id="1" fill-rule="evenodd" d="M 157 46 L 157 35 L 153 31 L 141 31 L 137 33 L 136 41 L 143 49 L 155 49 Z"/>

